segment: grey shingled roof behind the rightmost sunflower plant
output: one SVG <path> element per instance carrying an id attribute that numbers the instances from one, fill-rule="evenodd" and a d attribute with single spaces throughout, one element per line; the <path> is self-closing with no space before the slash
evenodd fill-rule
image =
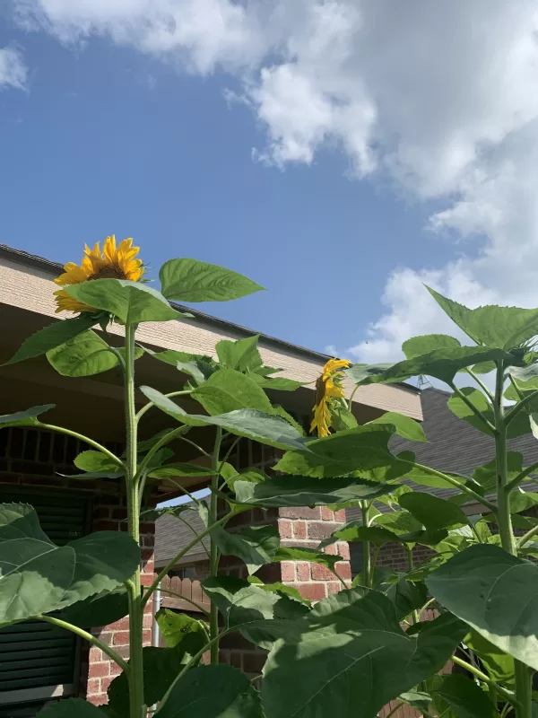
<path id="1" fill-rule="evenodd" d="M 389 447 L 393 453 L 412 451 L 416 461 L 424 466 L 471 476 L 475 468 L 495 458 L 495 443 L 492 437 L 478 431 L 450 411 L 447 401 L 451 396 L 451 392 L 435 387 L 422 390 L 422 428 L 428 443 L 411 442 L 401 436 L 393 436 Z M 538 442 L 532 433 L 511 439 L 508 442 L 508 450 L 521 452 L 524 466 L 538 461 Z M 418 486 L 411 481 L 406 483 L 415 491 L 426 491 L 441 498 L 457 493 L 454 489 Z M 359 507 L 348 509 L 346 516 L 348 521 L 359 518 Z"/>

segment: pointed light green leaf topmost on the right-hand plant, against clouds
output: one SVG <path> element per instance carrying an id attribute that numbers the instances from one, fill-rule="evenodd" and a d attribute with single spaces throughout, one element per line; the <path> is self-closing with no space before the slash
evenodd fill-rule
<path id="1" fill-rule="evenodd" d="M 514 349 L 538 334 L 538 309 L 490 305 L 472 310 L 426 288 L 450 319 L 477 344 Z"/>

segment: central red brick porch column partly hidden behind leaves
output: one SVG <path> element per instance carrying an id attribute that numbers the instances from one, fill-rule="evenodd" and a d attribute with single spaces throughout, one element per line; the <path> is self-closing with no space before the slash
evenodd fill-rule
<path id="1" fill-rule="evenodd" d="M 333 512 L 326 506 L 313 509 L 254 509 L 239 513 L 229 522 L 227 529 L 240 530 L 246 526 L 260 526 L 273 523 L 278 527 L 282 546 L 315 548 L 319 542 L 345 523 L 345 512 Z M 325 552 L 341 556 L 336 571 L 343 580 L 351 582 L 350 551 L 345 541 L 326 547 Z M 247 577 L 247 567 L 235 556 L 221 557 L 221 574 Z M 262 566 L 256 576 L 265 583 L 282 582 L 298 589 L 308 600 L 325 599 L 330 593 L 343 590 L 339 582 L 325 566 L 304 561 L 282 561 L 280 564 Z M 265 664 L 267 652 L 239 634 L 229 634 L 221 641 L 221 661 L 230 663 L 249 676 L 258 676 Z"/>

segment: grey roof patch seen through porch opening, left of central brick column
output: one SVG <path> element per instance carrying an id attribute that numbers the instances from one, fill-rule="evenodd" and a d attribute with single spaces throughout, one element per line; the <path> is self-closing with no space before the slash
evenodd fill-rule
<path id="1" fill-rule="evenodd" d="M 202 499 L 204 501 L 204 499 Z M 189 502 L 187 506 L 195 506 L 194 502 Z M 181 547 L 187 546 L 195 534 L 191 530 L 187 523 L 192 526 L 196 533 L 200 534 L 204 531 L 204 521 L 200 518 L 200 514 L 194 511 L 187 511 L 181 513 L 181 518 L 173 516 L 171 513 L 165 513 L 157 521 L 155 521 L 155 567 L 162 568 L 167 565 L 169 560 L 178 554 Z M 181 557 L 178 561 L 178 565 L 190 565 L 198 563 L 199 561 L 207 561 L 207 554 L 205 548 L 209 550 L 209 541 L 207 538 L 202 539 L 196 543 L 194 547 L 190 548 L 185 556 Z"/>

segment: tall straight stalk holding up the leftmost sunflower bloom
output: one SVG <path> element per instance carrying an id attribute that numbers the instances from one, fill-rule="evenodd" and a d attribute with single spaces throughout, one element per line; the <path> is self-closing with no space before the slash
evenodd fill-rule
<path id="1" fill-rule="evenodd" d="M 126 325 L 126 493 L 127 530 L 129 536 L 140 545 L 140 502 L 136 456 L 136 409 L 134 405 L 134 334 L 136 326 Z M 129 718 L 143 718 L 143 604 L 140 582 L 140 565 L 126 583 L 129 596 Z"/>

